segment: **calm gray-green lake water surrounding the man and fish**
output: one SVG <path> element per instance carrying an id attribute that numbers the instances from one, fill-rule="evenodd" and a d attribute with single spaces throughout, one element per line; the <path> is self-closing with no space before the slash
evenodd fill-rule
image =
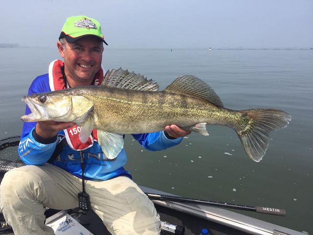
<path id="1" fill-rule="evenodd" d="M 23 95 L 60 58 L 56 48 L 0 48 L 0 138 L 20 135 Z M 285 209 L 286 217 L 236 211 L 313 234 L 313 50 L 105 49 L 106 69 L 128 69 L 163 90 L 179 75 L 196 75 L 226 108 L 276 108 L 290 125 L 270 135 L 260 163 L 250 160 L 236 133 L 207 126 L 165 151 L 143 149 L 131 136 L 126 168 L 134 181 L 184 197 Z"/>

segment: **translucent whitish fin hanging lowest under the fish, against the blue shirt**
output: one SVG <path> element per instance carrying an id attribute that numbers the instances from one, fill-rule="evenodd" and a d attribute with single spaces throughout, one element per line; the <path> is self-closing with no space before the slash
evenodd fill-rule
<path id="1" fill-rule="evenodd" d="M 98 143 L 108 159 L 114 159 L 124 146 L 123 135 L 97 130 Z"/>

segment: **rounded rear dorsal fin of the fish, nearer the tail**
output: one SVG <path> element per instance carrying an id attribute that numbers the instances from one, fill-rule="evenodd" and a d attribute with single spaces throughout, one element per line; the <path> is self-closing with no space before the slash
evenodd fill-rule
<path id="1" fill-rule="evenodd" d="M 214 92 L 214 90 L 208 84 L 193 75 L 178 77 L 165 88 L 164 91 L 197 96 L 217 106 L 224 107 L 220 97 Z"/>

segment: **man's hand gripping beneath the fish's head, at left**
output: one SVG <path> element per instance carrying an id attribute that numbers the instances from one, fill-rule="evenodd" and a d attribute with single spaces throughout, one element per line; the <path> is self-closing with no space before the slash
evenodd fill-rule
<path id="1" fill-rule="evenodd" d="M 57 121 L 39 121 L 36 124 L 36 134 L 42 138 L 53 138 L 58 134 L 58 131 L 74 126 L 73 122 L 57 122 Z"/>

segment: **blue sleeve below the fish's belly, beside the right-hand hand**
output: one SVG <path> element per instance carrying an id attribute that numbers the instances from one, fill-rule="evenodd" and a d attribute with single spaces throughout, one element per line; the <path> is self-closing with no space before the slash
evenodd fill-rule
<path id="1" fill-rule="evenodd" d="M 151 151 L 164 150 L 169 147 L 178 145 L 182 141 L 182 137 L 171 140 L 166 138 L 164 131 L 148 133 L 148 134 L 133 134 L 141 146 Z"/>

